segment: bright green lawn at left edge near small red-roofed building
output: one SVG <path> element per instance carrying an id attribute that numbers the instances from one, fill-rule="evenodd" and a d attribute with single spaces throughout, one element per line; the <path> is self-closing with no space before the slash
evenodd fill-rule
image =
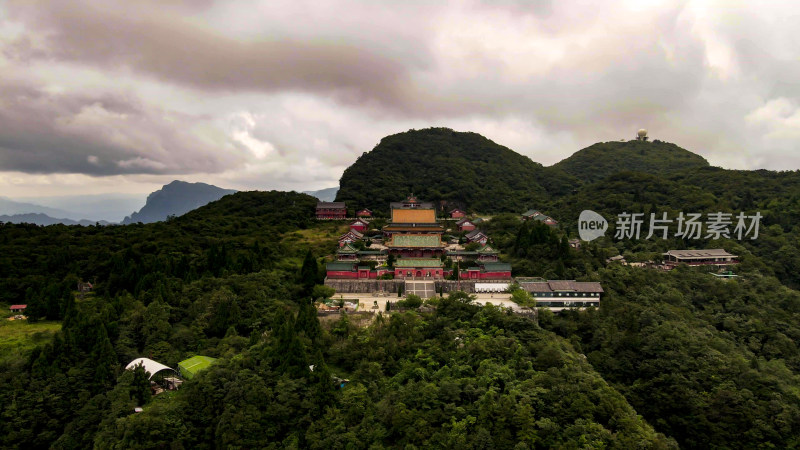
<path id="1" fill-rule="evenodd" d="M 24 358 L 30 349 L 49 342 L 53 334 L 61 329 L 61 323 L 55 321 L 32 324 L 27 320 L 10 321 L 8 305 L 0 305 L 0 308 L 0 361 Z"/>

